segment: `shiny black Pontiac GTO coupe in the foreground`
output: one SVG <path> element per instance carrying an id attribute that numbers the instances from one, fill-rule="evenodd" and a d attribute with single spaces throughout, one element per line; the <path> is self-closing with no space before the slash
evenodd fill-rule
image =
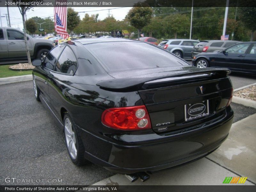
<path id="1" fill-rule="evenodd" d="M 34 60 L 35 97 L 65 134 L 74 164 L 128 174 L 208 155 L 233 120 L 228 69 L 197 68 L 145 42 L 81 39 Z"/>

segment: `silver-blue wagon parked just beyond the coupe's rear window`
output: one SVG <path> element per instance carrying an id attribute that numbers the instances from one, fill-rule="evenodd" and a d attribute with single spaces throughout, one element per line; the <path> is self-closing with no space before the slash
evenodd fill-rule
<path id="1" fill-rule="evenodd" d="M 198 42 L 199 41 L 197 40 L 190 39 L 166 39 L 158 44 L 158 46 L 166 49 L 169 52 L 172 52 L 178 57 L 191 58 L 193 47 Z"/>

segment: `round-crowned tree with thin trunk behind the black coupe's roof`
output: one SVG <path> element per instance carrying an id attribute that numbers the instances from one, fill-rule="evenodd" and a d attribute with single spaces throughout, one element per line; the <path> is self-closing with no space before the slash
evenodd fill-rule
<path id="1" fill-rule="evenodd" d="M 147 4 L 139 2 L 134 4 L 134 7 L 127 14 L 131 25 L 138 29 L 138 40 L 140 40 L 140 30 L 149 24 L 153 15 L 152 8 L 147 6 Z"/>

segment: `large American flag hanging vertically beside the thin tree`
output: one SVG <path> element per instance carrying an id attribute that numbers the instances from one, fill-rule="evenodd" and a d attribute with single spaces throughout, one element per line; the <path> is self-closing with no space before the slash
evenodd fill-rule
<path id="1" fill-rule="evenodd" d="M 69 37 L 67 33 L 67 7 L 65 5 L 56 5 L 56 2 L 66 4 L 67 0 L 56 0 L 54 6 L 55 31 L 63 39 L 67 39 Z"/>

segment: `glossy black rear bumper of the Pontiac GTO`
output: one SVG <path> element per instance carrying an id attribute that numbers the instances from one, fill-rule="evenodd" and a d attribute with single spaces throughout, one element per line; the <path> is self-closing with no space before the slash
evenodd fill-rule
<path id="1" fill-rule="evenodd" d="M 116 136 L 118 141 L 107 141 L 82 131 L 81 138 L 86 143 L 85 158 L 109 171 L 123 174 L 156 172 L 190 163 L 210 154 L 228 137 L 233 121 L 233 111 L 229 109 L 224 118 L 199 130 L 167 136 L 156 133 L 142 137 L 132 135 L 134 142 L 130 143 L 125 142 L 128 135 Z M 94 141 L 88 144 L 89 137 Z M 147 143 L 141 144 L 139 138 Z"/>

